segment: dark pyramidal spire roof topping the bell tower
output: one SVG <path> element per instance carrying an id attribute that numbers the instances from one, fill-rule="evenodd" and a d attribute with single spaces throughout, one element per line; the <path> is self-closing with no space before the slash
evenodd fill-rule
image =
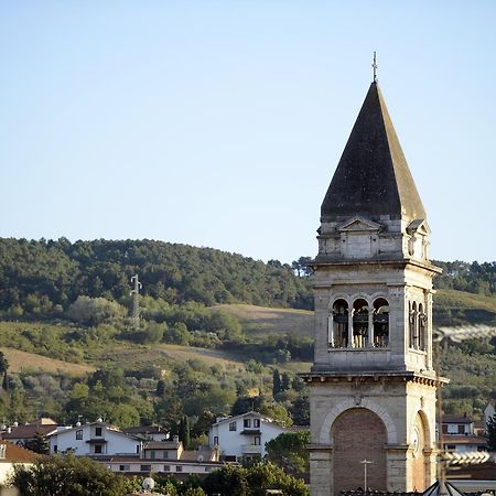
<path id="1" fill-rule="evenodd" d="M 370 85 L 321 207 L 323 220 L 351 215 L 425 218 L 376 82 Z"/>

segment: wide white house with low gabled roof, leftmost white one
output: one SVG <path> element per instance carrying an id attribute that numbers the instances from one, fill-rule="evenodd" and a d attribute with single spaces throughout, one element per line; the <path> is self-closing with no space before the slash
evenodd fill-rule
<path id="1" fill-rule="evenodd" d="M 74 453 L 76 456 L 140 454 L 142 439 L 126 434 L 103 421 L 76 427 L 60 427 L 48 435 L 50 454 Z"/>

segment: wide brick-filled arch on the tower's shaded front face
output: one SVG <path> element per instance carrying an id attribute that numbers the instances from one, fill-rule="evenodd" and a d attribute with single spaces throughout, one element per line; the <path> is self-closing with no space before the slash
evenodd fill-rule
<path id="1" fill-rule="evenodd" d="M 363 460 L 367 465 L 367 486 L 374 490 L 387 488 L 387 431 L 382 420 L 365 408 L 352 408 L 334 421 L 333 442 L 334 494 L 364 487 Z"/>

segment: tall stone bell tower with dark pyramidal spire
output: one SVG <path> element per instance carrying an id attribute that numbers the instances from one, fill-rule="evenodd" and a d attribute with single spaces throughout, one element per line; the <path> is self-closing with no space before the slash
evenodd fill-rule
<path id="1" fill-rule="evenodd" d="M 435 479 L 429 226 L 375 80 L 321 208 L 311 493 Z"/>

